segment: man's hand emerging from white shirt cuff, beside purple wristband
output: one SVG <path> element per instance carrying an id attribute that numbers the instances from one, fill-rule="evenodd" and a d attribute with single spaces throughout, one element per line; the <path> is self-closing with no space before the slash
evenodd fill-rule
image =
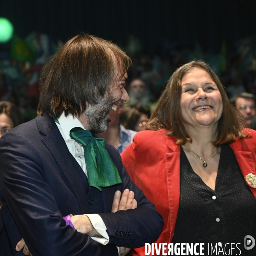
<path id="1" fill-rule="evenodd" d="M 71 221 L 80 233 L 83 233 L 88 236 L 102 237 L 93 227 L 90 219 L 86 215 L 75 215 L 71 216 Z"/>

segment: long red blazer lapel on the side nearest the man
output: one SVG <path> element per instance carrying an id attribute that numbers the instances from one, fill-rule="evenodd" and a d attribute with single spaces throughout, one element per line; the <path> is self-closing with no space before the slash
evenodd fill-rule
<path id="1" fill-rule="evenodd" d="M 170 240 L 174 235 L 175 223 L 180 203 L 180 146 L 175 145 L 176 137 L 167 137 L 166 145 L 171 149 L 171 153 L 166 154 L 167 183 L 169 192 L 170 218 Z"/>

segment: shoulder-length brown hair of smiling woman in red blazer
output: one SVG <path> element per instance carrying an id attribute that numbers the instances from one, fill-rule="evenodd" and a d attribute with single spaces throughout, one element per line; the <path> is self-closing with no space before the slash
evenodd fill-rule
<path id="1" fill-rule="evenodd" d="M 241 113 L 234 108 L 224 90 L 218 76 L 212 69 L 201 60 L 190 61 L 178 68 L 169 79 L 165 90 L 157 102 L 157 107 L 154 109 L 151 118 L 147 124 L 147 130 L 157 131 L 166 129 L 169 135 L 177 137 L 177 145 L 184 145 L 187 141 L 192 142 L 191 137 L 187 134 L 184 121 L 180 111 L 181 98 L 181 80 L 183 76 L 193 68 L 205 70 L 215 82 L 218 90 L 221 93 L 223 113 L 218 121 L 217 140 L 212 142 L 213 145 L 220 146 L 227 143 L 232 143 L 238 139 L 248 138 L 249 135 L 243 133 L 243 128 L 246 126 Z"/>

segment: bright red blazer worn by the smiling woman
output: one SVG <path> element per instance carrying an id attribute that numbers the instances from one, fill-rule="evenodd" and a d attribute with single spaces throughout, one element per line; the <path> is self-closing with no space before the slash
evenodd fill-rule
<path id="1" fill-rule="evenodd" d="M 249 132 L 252 138 L 230 144 L 244 177 L 249 173 L 256 175 L 256 131 L 246 129 L 245 132 Z M 175 143 L 176 137 L 167 136 L 164 129 L 141 131 L 121 154 L 131 179 L 164 218 L 157 243 L 172 241 L 179 208 L 180 146 Z M 256 198 L 256 189 L 250 189 Z M 139 255 L 145 255 L 145 247 L 135 250 Z"/>

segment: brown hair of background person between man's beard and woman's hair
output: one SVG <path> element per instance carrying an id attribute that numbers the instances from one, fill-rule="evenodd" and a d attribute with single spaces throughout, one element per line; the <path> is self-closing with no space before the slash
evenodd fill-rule
<path id="1" fill-rule="evenodd" d="M 135 125 L 143 114 L 150 117 L 150 111 L 146 106 L 142 104 L 128 105 L 120 115 L 120 123 L 126 129 L 135 131 Z"/>

